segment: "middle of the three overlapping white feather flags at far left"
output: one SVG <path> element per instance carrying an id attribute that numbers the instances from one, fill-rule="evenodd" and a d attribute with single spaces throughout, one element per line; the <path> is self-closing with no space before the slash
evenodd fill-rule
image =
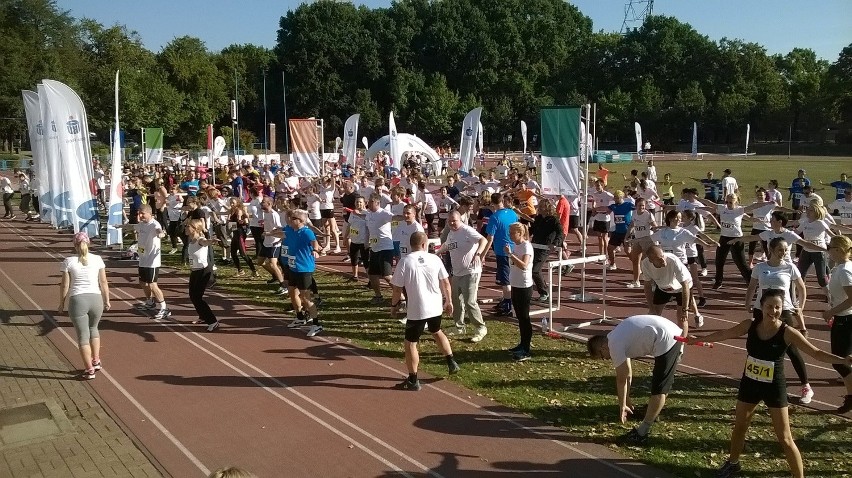
<path id="1" fill-rule="evenodd" d="M 57 206 L 56 198 L 61 196 L 65 191 L 65 185 L 62 180 L 62 171 L 65 167 L 62 164 L 62 159 L 59 157 L 57 124 L 53 119 L 50 103 L 47 101 L 47 92 L 41 83 L 38 85 L 38 104 L 41 110 L 42 131 L 44 131 L 44 162 L 47 166 L 47 185 L 45 192 L 41 193 L 39 203 L 42 209 L 45 209 L 45 206 L 47 206 L 45 212 L 53 227 L 59 227 L 60 224 L 70 225 L 70 211 Z"/>

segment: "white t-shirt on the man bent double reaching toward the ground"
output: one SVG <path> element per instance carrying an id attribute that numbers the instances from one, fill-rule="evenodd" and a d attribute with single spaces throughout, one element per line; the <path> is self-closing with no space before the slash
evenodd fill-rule
<path id="1" fill-rule="evenodd" d="M 677 343 L 683 330 L 659 315 L 634 315 L 621 321 L 607 334 L 612 364 L 618 367 L 627 359 L 651 355 L 659 357 Z"/>

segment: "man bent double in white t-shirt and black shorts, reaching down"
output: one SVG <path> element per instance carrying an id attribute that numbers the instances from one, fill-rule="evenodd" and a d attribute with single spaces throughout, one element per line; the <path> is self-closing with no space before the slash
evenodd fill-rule
<path id="1" fill-rule="evenodd" d="M 679 262 L 673 260 L 671 262 Z M 592 358 L 610 359 L 615 366 L 618 416 L 621 423 L 634 411 L 630 400 L 632 367 L 630 360 L 651 355 L 654 371 L 651 376 L 651 399 L 645 418 L 638 427 L 621 437 L 622 442 L 643 445 L 648 441 L 651 425 L 666 404 L 666 395 L 674 383 L 675 369 L 683 355 L 683 343 L 676 337 L 686 331 L 659 315 L 634 315 L 621 321 L 609 334 L 595 335 L 587 343 Z"/>

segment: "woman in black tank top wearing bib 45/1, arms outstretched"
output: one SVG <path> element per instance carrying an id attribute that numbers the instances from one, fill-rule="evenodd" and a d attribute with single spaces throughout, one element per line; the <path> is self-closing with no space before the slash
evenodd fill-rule
<path id="1" fill-rule="evenodd" d="M 852 355 L 839 357 L 813 346 L 792 327 L 781 321 L 784 307 L 784 291 L 767 289 L 760 298 L 763 311 L 762 320 L 747 319 L 727 330 L 720 330 L 694 340 L 717 342 L 742 337 L 746 339 L 746 357 L 740 390 L 737 395 L 737 409 L 734 430 L 731 433 L 730 457 L 716 476 L 737 475 L 742 469 L 740 455 L 745 446 L 745 436 L 757 405 L 763 401 L 769 408 L 772 427 L 775 429 L 778 443 L 784 450 L 787 464 L 794 477 L 804 477 L 802 455 L 793 442 L 790 432 L 790 418 L 787 413 L 787 382 L 784 379 L 784 354 L 789 345 L 813 358 L 826 363 L 852 364 Z"/>

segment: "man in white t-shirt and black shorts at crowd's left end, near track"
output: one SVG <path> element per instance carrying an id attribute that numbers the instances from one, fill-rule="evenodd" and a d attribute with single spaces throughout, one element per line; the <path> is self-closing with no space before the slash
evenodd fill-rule
<path id="1" fill-rule="evenodd" d="M 145 301 L 136 305 L 143 310 L 157 309 L 154 319 L 167 319 L 172 313 L 166 307 L 166 299 L 163 291 L 157 285 L 160 275 L 161 255 L 160 239 L 166 236 L 163 226 L 154 220 L 153 209 L 150 204 L 143 204 L 139 208 L 138 224 L 122 224 L 117 227 L 132 227 L 137 234 L 136 253 L 139 255 L 139 283 L 145 292 Z"/>

